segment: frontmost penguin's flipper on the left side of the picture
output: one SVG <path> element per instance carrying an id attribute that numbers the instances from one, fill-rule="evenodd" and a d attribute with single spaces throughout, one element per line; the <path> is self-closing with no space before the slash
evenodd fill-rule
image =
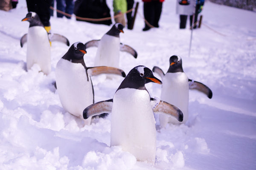
<path id="1" fill-rule="evenodd" d="M 113 106 L 113 99 L 94 103 L 84 109 L 83 117 L 84 119 L 87 119 L 90 116 L 96 116 L 102 113 L 111 113 L 112 106 Z"/>

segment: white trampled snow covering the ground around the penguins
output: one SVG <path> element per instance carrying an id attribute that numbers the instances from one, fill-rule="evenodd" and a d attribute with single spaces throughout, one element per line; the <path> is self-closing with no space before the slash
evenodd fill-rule
<path id="1" fill-rule="evenodd" d="M 113 16 L 112 0 L 107 0 Z M 136 161 L 121 147 L 110 147 L 110 116 L 91 125 L 67 113 L 55 90 L 55 66 L 67 52 L 52 42 L 52 71 L 38 73 L 38 65 L 25 71 L 28 31 L 25 0 L 9 12 L 0 11 L 0 169 L 2 170 L 253 170 L 256 167 L 256 13 L 206 1 L 203 25 L 193 31 L 191 55 L 188 26 L 180 30 L 175 0 L 163 3 L 160 28 L 143 32 L 140 1 L 133 30 L 124 30 L 121 42 L 138 52 L 137 59 L 120 53 L 120 68 L 127 74 L 137 65 L 167 71 L 169 57 L 180 55 L 190 79 L 203 82 L 212 99 L 196 91 L 189 94 L 186 125 L 157 130 L 154 165 Z M 74 42 L 100 39 L 111 27 L 52 17 L 52 32 Z M 189 22 L 187 23 L 187 25 Z M 92 66 L 96 48 L 84 55 Z M 157 77 L 158 75 L 155 74 Z M 95 102 L 111 99 L 122 78 L 92 78 Z M 161 85 L 146 85 L 160 96 Z"/>

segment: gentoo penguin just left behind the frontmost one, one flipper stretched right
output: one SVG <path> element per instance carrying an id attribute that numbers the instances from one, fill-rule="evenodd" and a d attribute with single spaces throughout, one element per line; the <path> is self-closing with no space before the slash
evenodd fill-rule
<path id="1" fill-rule="evenodd" d="M 86 67 L 84 54 L 85 45 L 81 42 L 74 43 L 57 62 L 55 69 L 56 88 L 61 105 L 67 112 L 81 119 L 84 108 L 94 103 L 91 76 L 107 73 L 125 77 L 125 72 L 118 68 Z M 91 119 L 87 119 L 84 124 L 90 125 L 90 122 Z"/>

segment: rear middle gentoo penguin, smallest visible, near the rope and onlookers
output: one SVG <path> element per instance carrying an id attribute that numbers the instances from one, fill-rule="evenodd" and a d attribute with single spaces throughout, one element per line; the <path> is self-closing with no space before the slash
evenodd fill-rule
<path id="1" fill-rule="evenodd" d="M 100 40 L 91 40 L 85 43 L 86 48 L 98 47 L 95 57 L 95 66 L 106 65 L 119 67 L 119 51 L 125 51 L 137 58 L 137 52 L 128 45 L 120 43 L 119 33 L 123 31 L 123 25 L 116 23 L 103 35 Z"/>

